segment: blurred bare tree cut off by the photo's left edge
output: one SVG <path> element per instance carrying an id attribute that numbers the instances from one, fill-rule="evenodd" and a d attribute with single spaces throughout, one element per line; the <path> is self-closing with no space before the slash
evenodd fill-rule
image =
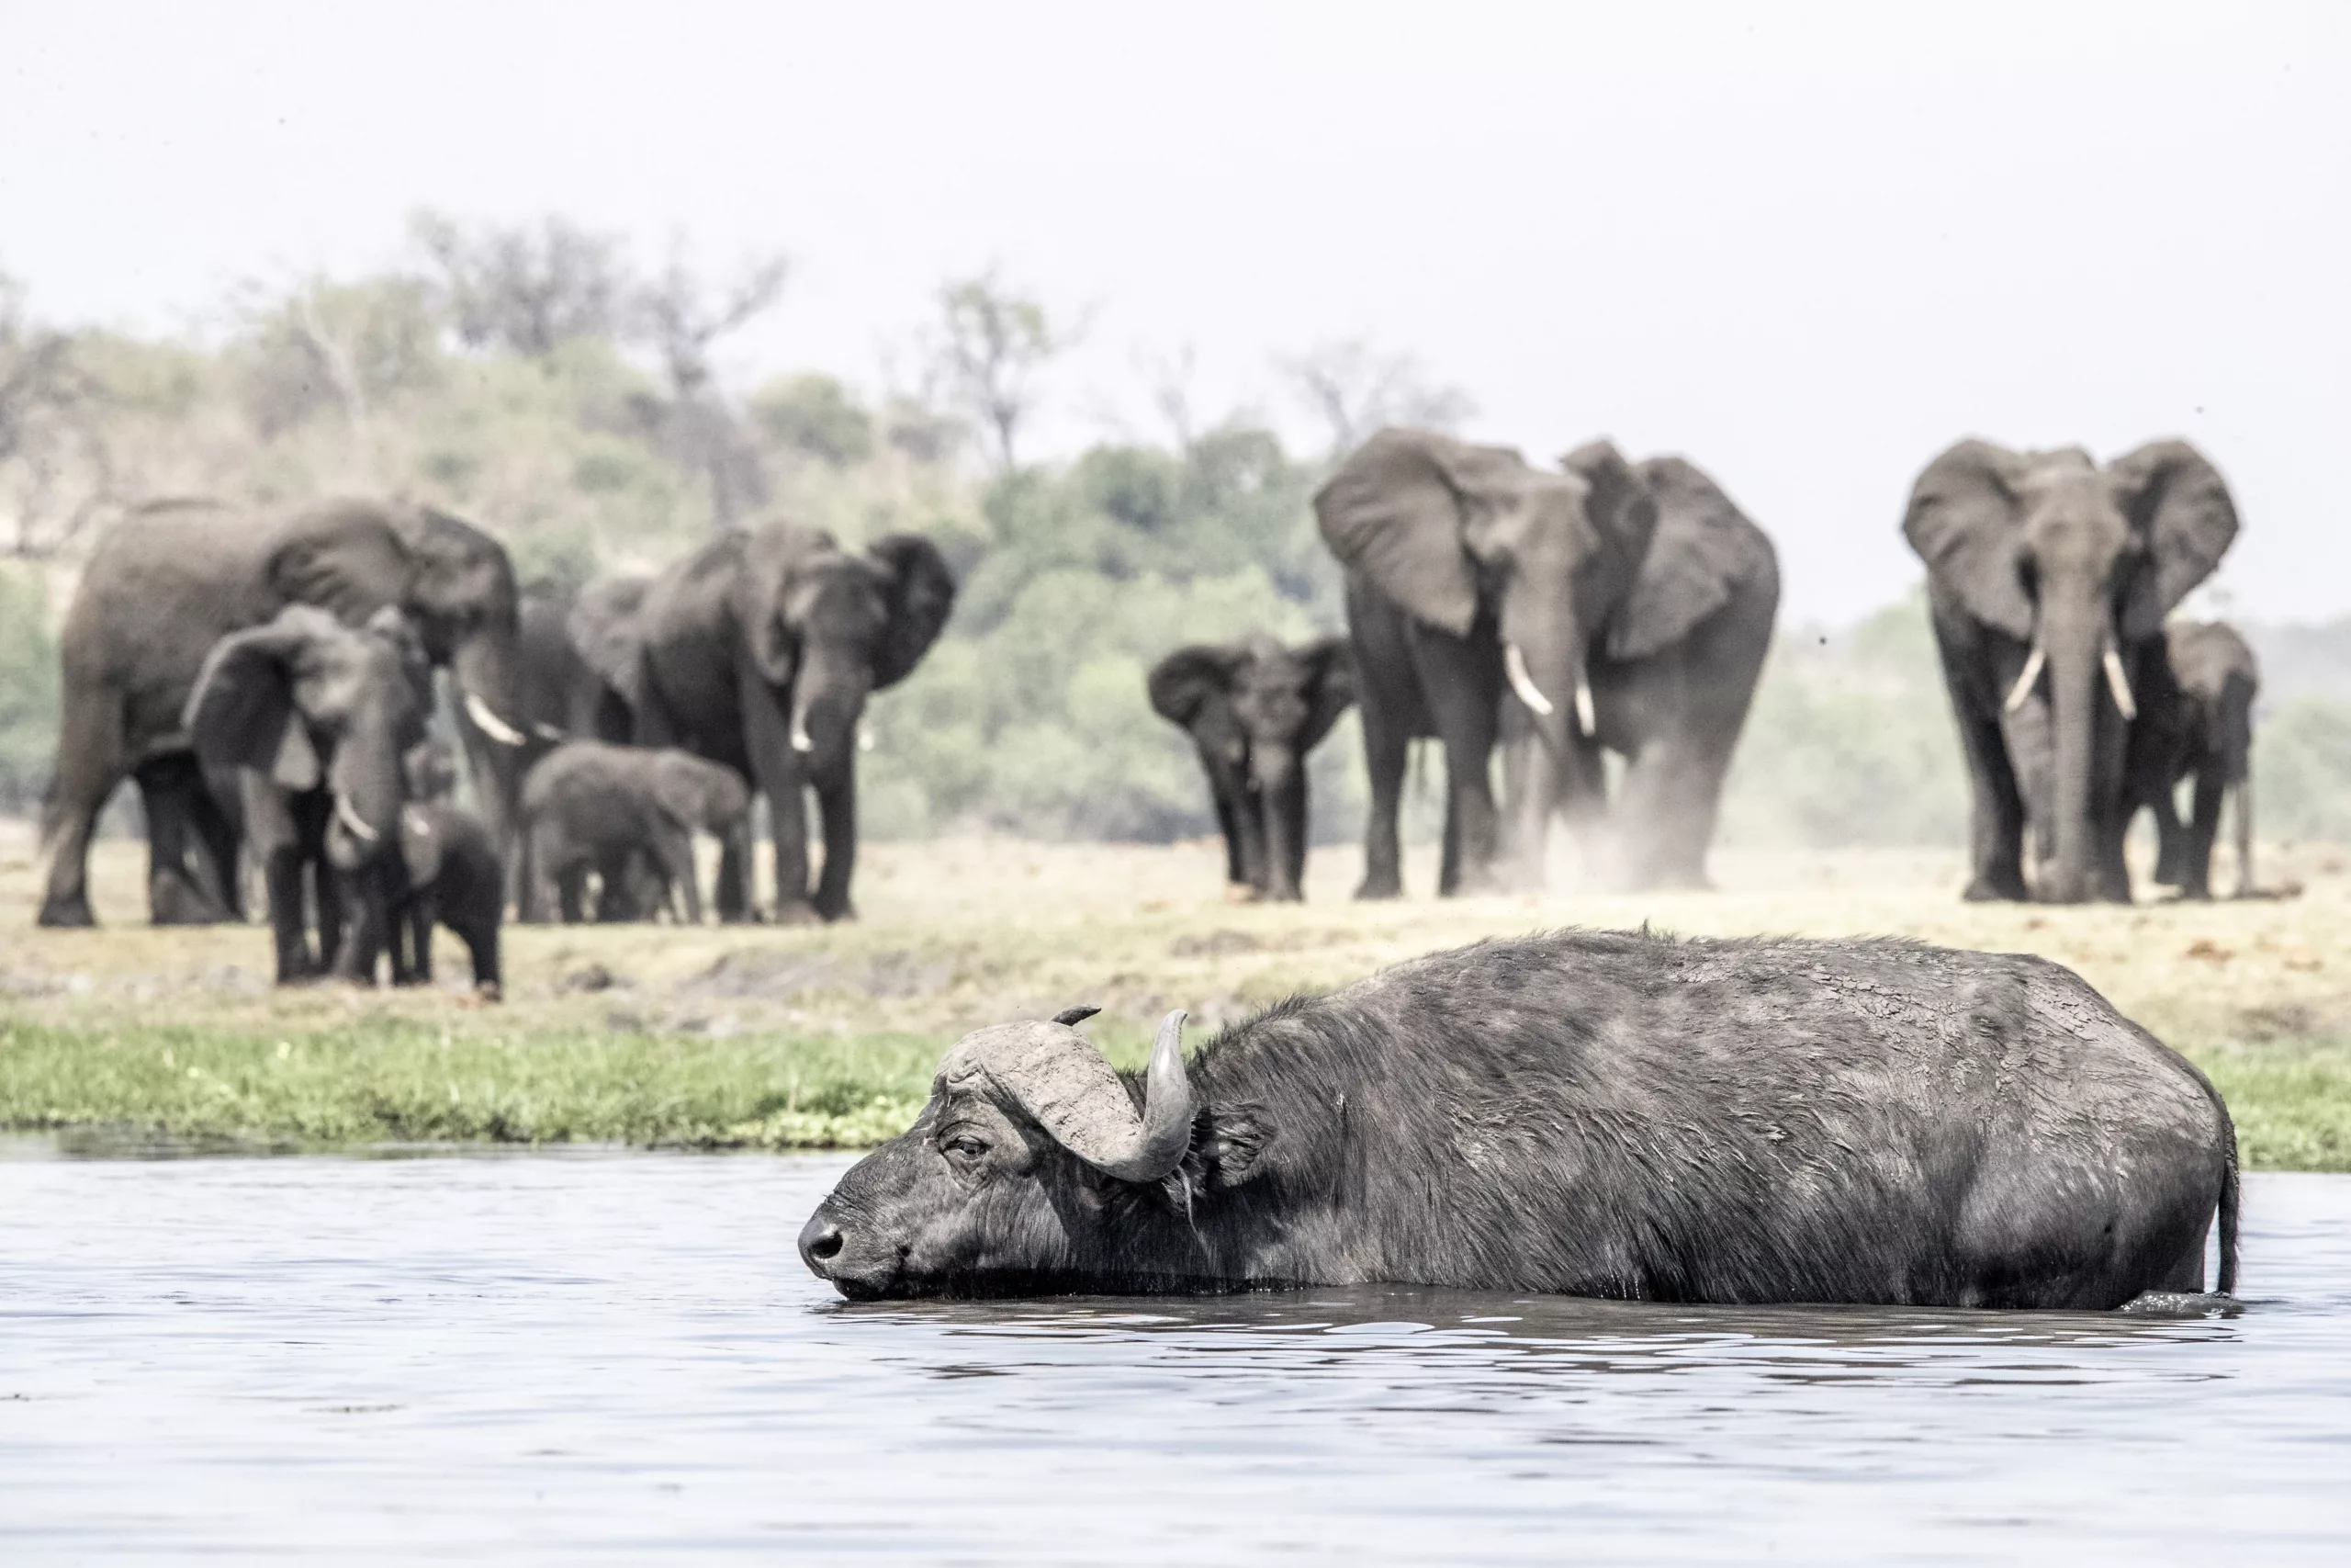
<path id="1" fill-rule="evenodd" d="M 68 334 L 33 327 L 24 287 L 0 275 L 0 524 L 7 555 L 73 545 L 113 501 L 99 386 Z"/>

